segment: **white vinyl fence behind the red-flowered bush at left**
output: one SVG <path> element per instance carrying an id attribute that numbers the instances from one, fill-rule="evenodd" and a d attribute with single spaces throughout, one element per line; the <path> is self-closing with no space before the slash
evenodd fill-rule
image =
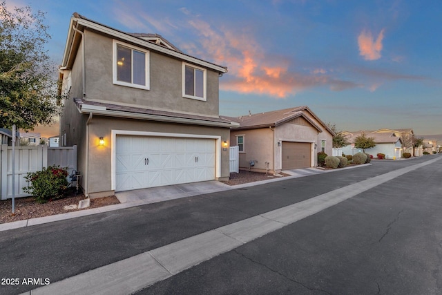
<path id="1" fill-rule="evenodd" d="M 77 146 L 15 146 L 15 197 L 30 196 L 23 191 L 23 187 L 28 187 L 24 178 L 28 172 L 51 165 L 68 167 L 69 174 L 77 170 Z M 12 198 L 12 146 L 7 144 L 1 145 L 0 196 L 1 200 Z"/>

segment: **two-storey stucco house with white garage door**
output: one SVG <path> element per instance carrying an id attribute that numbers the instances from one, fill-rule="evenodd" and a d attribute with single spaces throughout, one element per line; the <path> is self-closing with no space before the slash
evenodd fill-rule
<path id="1" fill-rule="evenodd" d="M 219 116 L 227 68 L 160 35 L 129 34 L 75 13 L 59 69 L 68 94 L 61 145 L 77 145 L 91 198 L 115 191 L 229 179 L 230 129 Z"/>

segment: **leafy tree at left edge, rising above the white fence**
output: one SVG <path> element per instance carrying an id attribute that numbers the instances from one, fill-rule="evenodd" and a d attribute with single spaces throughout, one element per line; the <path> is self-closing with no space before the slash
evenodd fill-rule
<path id="1" fill-rule="evenodd" d="M 44 46 L 50 39 L 44 12 L 7 10 L 0 1 L 0 127 L 29 131 L 59 115 L 57 67 Z"/>

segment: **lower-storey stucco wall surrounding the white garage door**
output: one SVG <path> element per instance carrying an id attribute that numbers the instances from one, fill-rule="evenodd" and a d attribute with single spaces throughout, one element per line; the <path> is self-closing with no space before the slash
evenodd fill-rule
<path id="1" fill-rule="evenodd" d="M 112 193 L 112 131 L 146 131 L 155 133 L 184 133 L 194 135 L 220 136 L 220 144 L 229 140 L 229 129 L 185 124 L 169 124 L 144 120 L 130 120 L 117 117 L 94 116 L 89 124 L 89 175 L 88 188 L 91 197 Z M 104 146 L 99 146 L 99 137 L 104 137 Z M 216 155 L 218 157 L 218 155 Z M 229 151 L 220 149 L 220 177 L 229 178 Z"/>

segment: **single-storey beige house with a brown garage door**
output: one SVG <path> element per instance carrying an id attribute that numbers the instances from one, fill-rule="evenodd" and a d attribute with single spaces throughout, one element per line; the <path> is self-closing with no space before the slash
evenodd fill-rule
<path id="1" fill-rule="evenodd" d="M 307 106 L 225 118 L 240 124 L 230 133 L 240 169 L 278 173 L 316 166 L 319 151 L 332 155 L 334 132 Z"/>

